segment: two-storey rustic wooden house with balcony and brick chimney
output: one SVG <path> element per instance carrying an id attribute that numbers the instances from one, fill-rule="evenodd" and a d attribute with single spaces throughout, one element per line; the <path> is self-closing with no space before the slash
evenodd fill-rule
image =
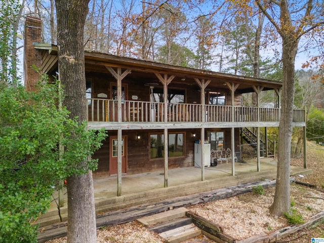
<path id="1" fill-rule="evenodd" d="M 240 159 L 244 137 L 257 144 L 260 170 L 260 156 L 268 154 L 260 129 L 278 127 L 280 109 L 259 102 L 242 106 L 242 94 L 255 92 L 259 100 L 262 91 L 272 90 L 280 107 L 280 82 L 91 51 L 85 52 L 85 64 L 88 125 L 109 134 L 94 154 L 95 178 L 160 170 L 167 187 L 168 169 L 198 166 L 204 180 L 210 150 L 230 148 L 231 157 Z M 49 75 L 59 71 L 57 48 L 41 43 L 37 18 L 26 19 L 24 65 L 28 90 L 38 77 L 31 65 Z M 293 124 L 305 128 L 304 110 L 294 110 Z M 234 175 L 235 163 L 229 163 Z"/>

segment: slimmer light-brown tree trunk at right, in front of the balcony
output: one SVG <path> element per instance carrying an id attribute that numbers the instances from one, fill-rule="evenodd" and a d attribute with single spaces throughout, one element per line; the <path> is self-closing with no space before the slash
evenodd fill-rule
<path id="1" fill-rule="evenodd" d="M 294 105 L 294 74 L 295 57 L 298 49 L 298 39 L 294 35 L 282 36 L 282 102 L 279 121 L 279 144 L 277 181 L 273 204 L 270 207 L 272 215 L 282 215 L 290 212 L 290 156 L 293 131 Z"/>

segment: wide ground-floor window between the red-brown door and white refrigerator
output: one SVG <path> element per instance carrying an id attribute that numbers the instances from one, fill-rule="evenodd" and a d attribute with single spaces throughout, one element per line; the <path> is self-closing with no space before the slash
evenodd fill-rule
<path id="1" fill-rule="evenodd" d="M 181 157 L 183 156 L 183 133 L 174 133 L 168 135 L 168 157 Z M 150 158 L 163 158 L 164 157 L 164 134 L 151 134 L 150 135 Z"/>

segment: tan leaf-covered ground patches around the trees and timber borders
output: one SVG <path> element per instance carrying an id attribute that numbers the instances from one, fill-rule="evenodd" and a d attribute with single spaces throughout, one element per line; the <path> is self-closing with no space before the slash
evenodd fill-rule
<path id="1" fill-rule="evenodd" d="M 320 148 L 320 147 L 318 147 Z M 308 168 L 313 169 L 313 174 L 297 177 L 296 180 L 316 185 L 318 189 L 324 184 L 323 175 L 324 150 L 308 149 Z M 303 165 L 302 159 L 292 159 L 292 165 Z M 253 192 L 235 197 L 212 201 L 206 204 L 195 205 L 188 209 L 201 217 L 219 224 L 224 233 L 244 239 L 262 232 L 271 233 L 279 228 L 288 226 L 284 217 L 273 218 L 269 214 L 272 204 L 274 187 L 265 189 L 263 195 Z M 294 209 L 307 221 L 311 216 L 324 208 L 324 191 L 297 185 L 291 186 L 292 200 L 295 201 Z M 324 224 L 312 230 L 301 230 L 277 242 L 304 243 L 310 242 L 311 237 L 324 237 Z M 48 243 L 66 242 L 66 238 L 47 241 Z M 164 242 L 154 232 L 148 231 L 137 222 L 130 222 L 115 226 L 105 227 L 97 231 L 97 242 Z"/>

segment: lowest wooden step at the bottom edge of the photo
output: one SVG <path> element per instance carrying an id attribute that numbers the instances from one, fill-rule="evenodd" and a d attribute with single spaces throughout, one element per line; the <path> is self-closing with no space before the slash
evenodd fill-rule
<path id="1" fill-rule="evenodd" d="M 159 233 L 161 237 L 163 237 L 167 242 L 170 243 L 178 243 L 183 240 L 195 237 L 199 234 L 201 234 L 201 230 L 192 223 Z"/>

